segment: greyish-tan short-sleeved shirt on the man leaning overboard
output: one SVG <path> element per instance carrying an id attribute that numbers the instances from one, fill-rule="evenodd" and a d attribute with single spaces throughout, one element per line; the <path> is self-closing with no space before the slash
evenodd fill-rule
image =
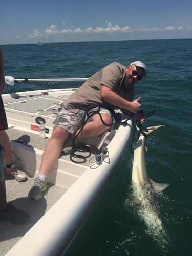
<path id="1" fill-rule="evenodd" d="M 126 66 L 113 62 L 96 72 L 82 84 L 63 105 L 67 110 L 77 113 L 81 108 L 104 106 L 118 109 L 117 106 L 105 102 L 101 98 L 101 85 L 111 88 L 122 98 L 132 101 L 135 95 L 134 86 L 126 89 L 124 86 Z"/>

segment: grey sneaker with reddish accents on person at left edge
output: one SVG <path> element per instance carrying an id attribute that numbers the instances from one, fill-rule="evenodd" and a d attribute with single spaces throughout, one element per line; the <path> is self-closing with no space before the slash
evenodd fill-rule
<path id="1" fill-rule="evenodd" d="M 9 176 L 13 176 L 16 181 L 26 181 L 27 174 L 24 170 L 15 164 L 12 164 L 10 168 L 5 167 L 4 173 Z"/>

